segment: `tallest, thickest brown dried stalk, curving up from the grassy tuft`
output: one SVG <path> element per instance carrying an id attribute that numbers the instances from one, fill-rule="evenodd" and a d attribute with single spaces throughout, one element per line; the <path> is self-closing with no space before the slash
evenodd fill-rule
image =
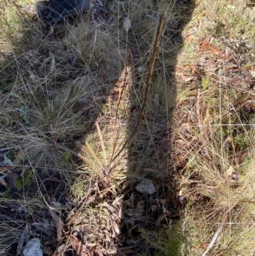
<path id="1" fill-rule="evenodd" d="M 151 84 L 151 80 L 152 80 L 152 73 L 153 73 L 153 70 L 154 70 L 154 65 L 155 65 L 156 56 L 157 56 L 157 50 L 159 48 L 159 40 L 161 38 L 161 33 L 162 33 L 165 17 L 166 17 L 166 11 L 164 11 L 164 13 L 161 15 L 161 18 L 160 18 L 160 21 L 159 21 L 159 26 L 157 27 L 156 38 L 155 38 L 155 41 L 154 41 L 154 49 L 153 49 L 153 52 L 152 52 L 152 61 L 150 63 L 149 73 L 148 73 L 146 87 L 145 87 L 145 97 L 144 97 L 142 109 L 140 111 L 140 115 L 138 117 L 138 121 L 137 121 L 136 126 L 135 126 L 135 130 L 133 131 L 133 133 L 131 133 L 129 138 L 123 144 L 123 146 L 121 147 L 120 151 L 110 161 L 109 167 L 108 167 L 109 173 L 110 173 L 110 171 L 112 169 L 113 162 L 119 157 L 119 155 L 122 153 L 122 151 L 124 151 L 124 149 L 126 148 L 126 146 L 129 143 L 129 141 L 133 138 L 135 133 L 138 131 L 138 128 L 139 128 L 140 123 L 142 121 L 143 112 L 145 110 L 145 107 L 147 105 L 148 98 L 149 98 L 149 91 L 150 91 L 150 84 Z"/>

